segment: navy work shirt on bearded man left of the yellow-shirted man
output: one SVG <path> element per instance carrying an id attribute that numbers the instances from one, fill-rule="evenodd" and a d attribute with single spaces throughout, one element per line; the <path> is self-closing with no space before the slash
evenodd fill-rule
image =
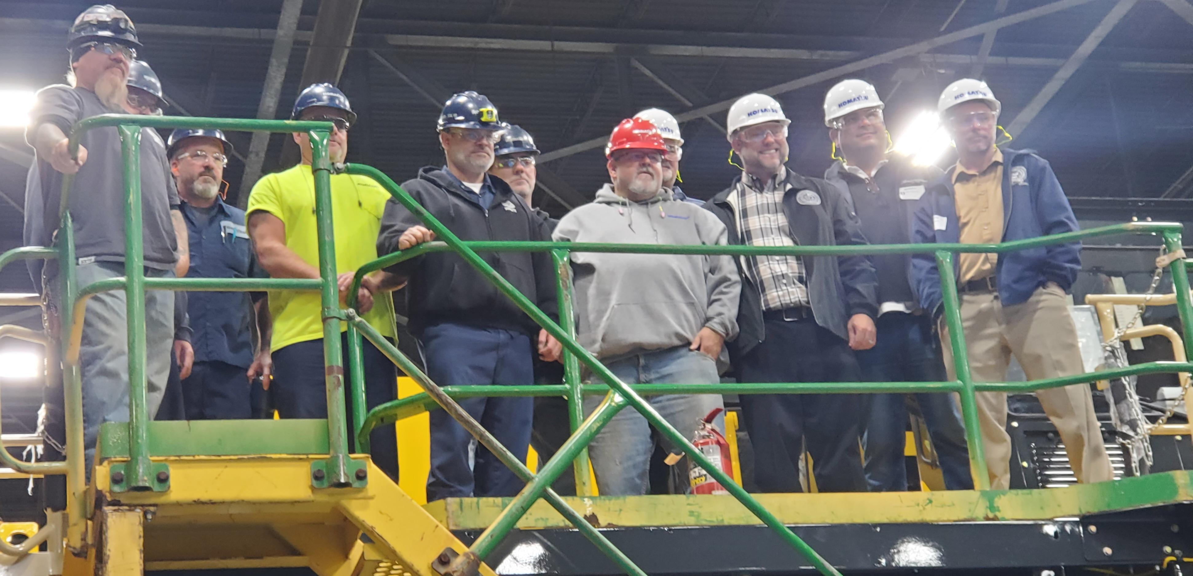
<path id="1" fill-rule="evenodd" d="M 191 268 L 186 278 L 267 278 L 256 264 L 245 211 L 224 204 L 221 198 L 211 206 L 203 224 L 200 209 L 183 203 L 187 237 L 191 244 Z M 188 292 L 191 346 L 194 361 L 222 361 L 248 370 L 253 364 L 253 301 L 248 292 Z"/>

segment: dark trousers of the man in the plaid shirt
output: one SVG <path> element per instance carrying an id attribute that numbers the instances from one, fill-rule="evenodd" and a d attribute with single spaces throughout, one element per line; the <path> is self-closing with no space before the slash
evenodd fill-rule
<path id="1" fill-rule="evenodd" d="M 766 320 L 766 339 L 737 366 L 740 382 L 858 382 L 848 343 L 815 320 Z M 847 394 L 743 394 L 742 419 L 764 493 L 798 493 L 806 444 L 822 493 L 866 491 L 858 434 L 863 401 Z"/>

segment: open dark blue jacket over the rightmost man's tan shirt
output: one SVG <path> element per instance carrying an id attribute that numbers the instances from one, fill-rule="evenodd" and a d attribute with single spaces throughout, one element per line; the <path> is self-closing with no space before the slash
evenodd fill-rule
<path id="1" fill-rule="evenodd" d="M 1030 150 L 1002 150 L 1002 241 L 1026 240 L 1077 230 L 1069 199 L 1047 161 Z M 928 187 L 915 213 L 911 240 L 916 243 L 959 241 L 953 203 L 956 166 Z M 941 229 L 942 228 L 942 229 Z M 958 273 L 953 259 L 953 273 Z M 1068 242 L 1000 254 L 995 277 L 1003 304 L 1026 302 L 1036 289 L 1057 283 L 1065 292 L 1081 270 L 1081 242 Z M 940 272 L 932 254 L 911 258 L 911 278 L 920 306 L 939 314 Z"/>

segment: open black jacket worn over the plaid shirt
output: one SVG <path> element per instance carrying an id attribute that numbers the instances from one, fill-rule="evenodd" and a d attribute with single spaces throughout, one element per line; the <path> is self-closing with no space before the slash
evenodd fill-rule
<path id="1" fill-rule="evenodd" d="M 729 204 L 738 175 L 734 182 L 711 200 L 705 203 L 705 210 L 721 218 L 729 230 L 729 243 L 741 244 L 741 233 L 737 229 L 737 215 Z M 783 197 L 783 210 L 791 227 L 791 236 L 801 246 L 846 246 L 865 244 L 861 227 L 857 215 L 849 210 L 841 191 L 818 178 L 806 178 L 787 169 L 787 182 L 791 188 Z M 799 191 L 810 190 L 821 198 L 817 205 L 802 205 L 796 202 Z M 846 324 L 855 314 L 878 317 L 878 277 L 870 259 L 857 256 L 801 256 L 804 261 L 808 280 L 808 297 L 811 299 L 812 316 L 816 323 L 832 330 L 842 340 L 848 340 Z M 741 330 L 737 339 L 725 342 L 729 347 L 730 361 L 738 363 L 754 346 L 766 339 L 762 322 L 762 295 L 754 279 L 742 270 L 740 258 L 737 272 L 742 277 L 741 304 L 737 308 L 737 327 Z"/>

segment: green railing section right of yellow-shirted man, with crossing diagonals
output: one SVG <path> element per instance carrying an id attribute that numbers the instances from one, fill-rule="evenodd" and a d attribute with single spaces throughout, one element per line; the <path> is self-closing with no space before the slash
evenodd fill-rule
<path id="1" fill-rule="evenodd" d="M 468 429 L 474 436 L 476 436 L 486 447 L 488 447 L 494 454 L 496 454 L 502 462 L 509 465 L 524 479 L 528 478 L 526 487 L 521 493 L 506 507 L 505 510 L 497 516 L 492 526 L 489 526 L 470 546 L 469 553 L 460 556 L 449 566 L 450 571 L 453 574 L 464 574 L 469 566 L 475 565 L 477 562 L 483 560 L 488 557 L 490 552 L 496 547 L 497 543 L 512 531 L 518 522 L 518 520 L 525 514 L 530 506 L 540 496 L 546 497 L 546 500 L 558 509 L 568 520 L 577 524 L 574 520 L 576 515 L 574 510 L 565 509 L 565 504 L 560 501 L 558 496 L 550 490 L 550 484 L 558 477 L 569 463 L 574 462 L 575 473 L 577 479 L 582 476 L 587 476 L 587 462 L 581 457 L 582 448 L 600 432 L 601 427 L 607 423 L 618 410 L 625 405 L 633 405 L 638 411 L 645 416 L 650 423 L 665 434 L 669 440 L 672 440 L 676 446 L 681 446 L 685 452 L 694 460 L 696 464 L 703 466 L 727 490 L 733 494 L 743 506 L 746 506 L 752 513 L 754 513 L 764 524 L 771 527 L 777 534 L 779 534 L 784 540 L 792 545 L 797 551 L 799 551 L 804 558 L 806 558 L 817 570 L 822 574 L 836 574 L 835 569 L 821 558 L 815 551 L 811 550 L 803 540 L 801 540 L 793 532 L 791 532 L 786 526 L 784 526 L 777 518 L 774 518 L 769 512 L 767 512 L 761 504 L 758 503 L 749 494 L 747 494 L 740 485 L 733 482 L 733 479 L 722 472 L 717 466 L 707 462 L 704 456 L 694 450 L 690 442 L 687 442 L 684 434 L 679 433 L 674 427 L 672 427 L 666 420 L 663 420 L 649 403 L 643 401 L 638 391 L 643 394 L 721 394 L 721 392 L 736 392 L 736 394 L 775 394 L 775 392 L 791 392 L 791 394 L 812 394 L 812 392 L 919 392 L 919 391 L 956 391 L 960 395 L 963 417 L 966 428 L 966 444 L 970 450 L 970 467 L 971 473 L 975 479 L 975 485 L 978 489 L 989 489 L 989 475 L 985 466 L 985 458 L 982 450 L 981 439 L 978 435 L 978 422 L 977 422 L 977 408 L 975 392 L 977 391 L 1005 391 L 1005 392 L 1026 392 L 1047 388 L 1058 388 L 1071 384 L 1080 384 L 1088 382 L 1090 379 L 1089 374 L 1075 374 L 1069 377 L 1050 378 L 1046 380 L 1036 380 L 1026 383 L 975 383 L 969 370 L 969 361 L 965 347 L 965 336 L 962 329 L 960 314 L 958 305 L 958 296 L 956 287 L 956 278 L 952 266 L 952 253 L 1007 253 L 1025 248 L 1032 248 L 1038 246 L 1049 246 L 1064 242 L 1080 241 L 1082 239 L 1106 236 L 1114 234 L 1162 234 L 1166 246 L 1170 250 L 1175 250 L 1180 247 L 1180 224 L 1168 224 L 1168 223 L 1130 223 L 1119 224 L 1111 227 L 1095 228 L 1090 230 L 1061 234 L 1049 237 L 1031 239 L 1022 241 L 1005 242 L 1001 244 L 890 244 L 890 246 L 801 246 L 793 248 L 772 248 L 772 247 L 747 247 L 747 246 L 655 246 L 655 244 L 598 244 L 598 243 L 554 243 L 554 242 L 463 242 L 455 234 L 451 233 L 446 227 L 443 225 L 438 219 L 434 218 L 429 212 L 427 212 L 421 205 L 419 205 L 413 198 L 410 198 L 400 186 L 397 186 L 391 179 L 379 171 L 358 165 L 345 165 L 342 167 L 344 172 L 350 174 L 366 175 L 372 178 L 384 188 L 387 188 L 390 194 L 406 209 L 410 210 L 412 213 L 418 216 L 424 224 L 427 225 L 441 242 L 431 242 L 416 246 L 414 248 L 402 250 L 395 254 L 383 256 L 373 262 L 363 266 L 356 278 L 356 286 L 350 290 L 350 295 L 357 292 L 361 278 L 373 271 L 391 266 L 400 261 L 418 256 L 420 254 L 432 253 L 432 252 L 456 252 L 468 261 L 472 267 L 480 271 L 488 280 L 494 283 L 497 289 L 509 297 L 524 312 L 526 312 L 531 318 L 533 318 L 539 326 L 542 326 L 548 333 L 555 336 L 564 347 L 565 351 L 565 366 L 569 361 L 579 359 L 582 361 L 595 376 L 602 379 L 607 384 L 605 386 L 582 386 L 579 383 L 577 371 L 575 366 L 567 370 L 564 376 L 565 383 L 563 385 L 524 385 L 524 386 L 459 386 L 455 389 L 443 389 L 435 383 L 431 382 L 427 376 L 418 368 L 406 355 L 403 355 L 396 347 L 385 341 L 381 334 L 364 322 L 361 318 L 350 312 L 351 324 L 348 327 L 350 334 L 353 332 L 359 332 L 365 339 L 376 345 L 387 357 L 394 360 L 398 367 L 402 368 L 407 374 L 409 374 L 425 391 L 426 396 L 419 395 L 418 397 L 403 398 L 401 401 L 390 402 L 381 407 L 375 408 L 365 417 L 358 415 L 356 422 L 358 422 L 358 429 L 356 431 L 356 439 L 358 446 L 367 446 L 369 433 L 376 426 L 383 422 L 390 422 L 397 420 L 398 415 L 409 415 L 420 409 L 421 405 L 426 405 L 427 397 L 429 397 L 434 403 L 443 407 L 451 416 L 460 421 L 460 423 Z M 948 327 L 948 336 L 952 343 L 953 363 L 957 374 L 957 380 L 954 382 L 928 382 L 928 383 L 784 383 L 784 384 L 723 384 L 723 385 L 709 385 L 709 384 L 641 384 L 641 385 L 626 385 L 624 382 L 619 380 L 612 372 L 608 371 L 600 361 L 598 361 L 592 354 L 589 354 L 583 347 L 581 347 L 575 337 L 574 330 L 569 326 L 564 329 L 552 322 L 542 310 L 539 310 L 530 299 L 521 295 L 517 289 L 513 287 L 505 278 L 496 273 L 483 259 L 481 259 L 476 250 L 482 252 L 495 252 L 495 250 L 509 250 L 509 252 L 548 252 L 550 250 L 555 256 L 556 273 L 557 277 L 563 280 L 561 281 L 560 292 L 563 295 L 567 292 L 565 289 L 565 271 L 567 267 L 567 253 L 568 252 L 605 252 L 605 253 L 651 253 L 651 254 L 729 254 L 729 255 L 764 255 L 764 254 L 797 254 L 797 255 L 849 255 L 849 254 L 894 254 L 894 253 L 932 253 L 934 254 L 940 271 L 940 281 L 944 290 L 944 317 L 946 326 Z M 1181 315 L 1182 326 L 1186 329 L 1191 328 L 1191 321 L 1193 321 L 1193 314 L 1191 314 L 1189 306 L 1189 293 L 1188 293 L 1188 280 L 1185 275 L 1185 262 L 1180 259 L 1172 262 L 1173 277 L 1176 283 L 1176 299 L 1179 304 L 1179 310 Z M 571 318 L 570 299 L 561 298 L 560 316 L 564 321 L 563 323 L 569 323 Z M 350 337 L 348 347 L 350 354 L 358 355 L 359 351 L 352 351 L 360 346 L 359 337 Z M 1100 372 L 1100 377 L 1119 377 L 1125 374 L 1138 374 L 1138 373 L 1152 373 L 1152 372 L 1187 372 L 1193 370 L 1193 365 L 1188 363 L 1148 363 L 1137 366 L 1130 366 L 1125 368 L 1115 368 L 1105 372 Z M 363 378 L 353 377 L 352 380 L 353 394 L 363 397 L 364 395 L 364 383 Z M 357 390 L 359 389 L 359 390 Z M 545 395 L 560 395 L 561 392 L 567 396 L 570 414 L 576 414 L 580 410 L 582 395 L 593 391 L 605 391 L 607 396 L 605 401 L 585 420 L 579 427 L 574 426 L 574 433 L 571 438 L 557 451 L 555 457 L 552 457 L 539 471 L 537 476 L 531 476 L 530 471 L 517 460 L 517 458 L 501 446 L 492 434 L 484 431 L 474 419 L 471 419 L 453 400 L 452 397 L 471 397 L 471 396 L 545 396 Z M 583 469 L 583 470 L 582 470 Z M 581 489 L 583 485 L 580 484 Z M 622 564 L 622 563 L 619 563 Z M 629 566 L 622 564 L 623 569 L 630 570 Z"/>

